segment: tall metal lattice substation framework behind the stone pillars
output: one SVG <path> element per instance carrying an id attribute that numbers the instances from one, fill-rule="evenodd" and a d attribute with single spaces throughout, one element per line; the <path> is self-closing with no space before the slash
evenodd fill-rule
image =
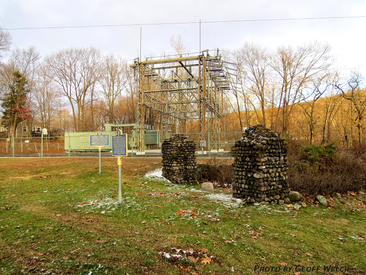
<path id="1" fill-rule="evenodd" d="M 208 150 L 222 148 L 223 97 L 235 85 L 229 72 L 231 63 L 224 61 L 219 49 L 212 56 L 210 52 L 143 62 L 136 59 L 131 65 L 138 83 L 138 151 L 144 150 L 147 109 L 160 113 L 162 140 L 171 133 L 185 133 L 187 121 L 196 120 L 199 140 L 206 141 Z"/>

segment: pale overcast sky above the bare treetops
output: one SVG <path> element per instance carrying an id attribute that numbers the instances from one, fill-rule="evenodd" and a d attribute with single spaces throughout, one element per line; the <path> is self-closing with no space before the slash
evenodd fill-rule
<path id="1" fill-rule="evenodd" d="M 366 1 L 0 0 L 0 24 L 7 29 L 345 16 L 366 16 Z M 274 50 L 318 40 L 332 47 L 335 67 L 362 67 L 364 73 L 365 27 L 366 17 L 202 23 L 201 49 L 235 49 L 248 41 Z M 33 45 L 42 56 L 70 46 L 93 46 L 132 60 L 140 48 L 140 26 L 9 32 L 15 46 Z M 143 25 L 142 57 L 172 53 L 172 35 L 180 35 L 191 52 L 199 51 L 198 23 Z"/>

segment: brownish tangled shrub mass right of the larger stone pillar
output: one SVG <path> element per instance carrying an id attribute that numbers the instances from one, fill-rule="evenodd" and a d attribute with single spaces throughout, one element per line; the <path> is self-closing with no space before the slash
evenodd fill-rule
<path id="1" fill-rule="evenodd" d="M 361 157 L 363 156 L 363 157 Z M 304 196 L 347 193 L 366 187 L 364 155 L 333 144 L 303 146 L 289 155 L 288 182 Z"/>

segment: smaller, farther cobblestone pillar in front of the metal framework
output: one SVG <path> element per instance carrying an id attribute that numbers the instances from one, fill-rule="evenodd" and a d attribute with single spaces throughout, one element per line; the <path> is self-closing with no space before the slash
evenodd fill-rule
<path id="1" fill-rule="evenodd" d="M 198 184 L 196 145 L 184 134 L 176 134 L 162 144 L 163 177 L 176 184 Z"/>

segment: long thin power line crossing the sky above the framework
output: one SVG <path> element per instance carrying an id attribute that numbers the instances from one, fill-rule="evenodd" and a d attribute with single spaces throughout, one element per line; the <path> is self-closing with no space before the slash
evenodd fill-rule
<path id="1" fill-rule="evenodd" d="M 189 21 L 189 22 L 165 22 L 165 23 L 141 23 L 141 24 L 109 24 L 109 25 L 79 25 L 79 26 L 50 26 L 50 27 L 28 27 L 11 28 L 8 31 L 15 30 L 46 30 L 46 29 L 75 29 L 75 28 L 109 28 L 117 26 L 154 26 L 154 25 L 182 25 L 182 24 L 200 24 L 200 23 L 237 23 L 237 22 L 260 22 L 260 21 L 290 21 L 290 20 L 319 20 L 319 19 L 351 19 L 366 18 L 366 16 L 329 16 L 329 17 L 301 17 L 301 18 L 272 18 L 272 19 L 243 19 L 243 20 L 221 20 L 221 21 Z"/>

